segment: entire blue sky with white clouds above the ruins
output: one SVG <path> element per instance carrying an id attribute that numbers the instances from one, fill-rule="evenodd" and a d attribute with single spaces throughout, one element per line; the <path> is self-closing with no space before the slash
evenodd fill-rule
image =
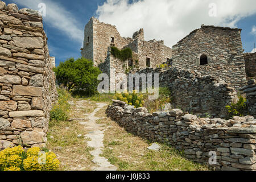
<path id="1" fill-rule="evenodd" d="M 255 0 L 4 0 L 16 3 L 19 9 L 39 10 L 46 4 L 44 30 L 48 36 L 51 56 L 56 64 L 69 57 L 81 56 L 84 26 L 91 16 L 114 24 L 122 36 L 132 36 L 144 28 L 146 40 L 164 40 L 173 46 L 201 24 L 242 28 L 245 52 L 251 52 L 256 42 Z M 209 4 L 216 4 L 216 16 L 209 16 Z M 225 2 L 225 3 L 224 3 Z"/>

